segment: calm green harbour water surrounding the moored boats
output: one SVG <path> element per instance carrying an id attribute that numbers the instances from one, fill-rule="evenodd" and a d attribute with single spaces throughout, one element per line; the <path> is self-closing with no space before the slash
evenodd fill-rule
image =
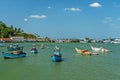
<path id="1" fill-rule="evenodd" d="M 10 43 L 4 43 L 9 46 Z M 30 53 L 33 43 L 19 43 L 24 46 L 25 58 L 4 59 L 0 47 L 0 80 L 120 80 L 120 44 L 108 43 L 34 43 L 38 54 Z M 52 62 L 55 46 L 60 47 L 62 62 Z M 82 56 L 75 47 L 91 50 L 90 45 L 105 47 L 112 52 Z"/>

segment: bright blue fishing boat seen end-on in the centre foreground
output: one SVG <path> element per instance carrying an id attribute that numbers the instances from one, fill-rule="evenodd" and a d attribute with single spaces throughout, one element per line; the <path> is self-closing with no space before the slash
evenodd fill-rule
<path id="1" fill-rule="evenodd" d="M 51 56 L 53 62 L 61 62 L 62 54 L 60 53 L 60 49 L 56 46 L 54 49 L 54 54 Z"/>

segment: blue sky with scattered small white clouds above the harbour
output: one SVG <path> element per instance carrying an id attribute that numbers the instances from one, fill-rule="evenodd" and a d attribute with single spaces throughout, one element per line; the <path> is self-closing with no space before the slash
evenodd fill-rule
<path id="1" fill-rule="evenodd" d="M 40 37 L 120 37 L 120 0 L 0 0 L 0 21 Z"/>

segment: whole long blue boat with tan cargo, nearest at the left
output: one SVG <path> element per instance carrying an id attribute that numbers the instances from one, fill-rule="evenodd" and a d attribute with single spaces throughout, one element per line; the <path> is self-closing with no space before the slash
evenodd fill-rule
<path id="1" fill-rule="evenodd" d="M 2 56 L 6 58 L 22 58 L 26 57 L 26 53 L 22 51 L 2 52 Z"/>

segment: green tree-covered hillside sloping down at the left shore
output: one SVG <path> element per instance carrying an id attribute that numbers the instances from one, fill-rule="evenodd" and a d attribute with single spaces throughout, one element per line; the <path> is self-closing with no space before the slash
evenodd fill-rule
<path id="1" fill-rule="evenodd" d="M 7 26 L 5 23 L 0 21 L 0 38 L 10 38 L 12 36 L 24 37 L 26 39 L 37 38 L 34 34 L 25 33 L 21 28 L 16 28 L 13 25 Z"/>

